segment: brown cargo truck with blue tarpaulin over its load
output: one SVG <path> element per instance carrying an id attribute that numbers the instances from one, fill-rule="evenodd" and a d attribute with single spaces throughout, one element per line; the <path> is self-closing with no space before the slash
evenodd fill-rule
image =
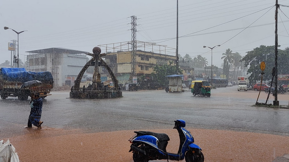
<path id="1" fill-rule="evenodd" d="M 24 82 L 38 80 L 41 84 L 21 88 Z M 18 97 L 19 100 L 27 100 L 32 93 L 38 93 L 45 98 L 50 95 L 53 88 L 53 77 L 49 71 L 31 72 L 25 68 L 1 68 L 0 69 L 0 95 L 1 99 Z"/>

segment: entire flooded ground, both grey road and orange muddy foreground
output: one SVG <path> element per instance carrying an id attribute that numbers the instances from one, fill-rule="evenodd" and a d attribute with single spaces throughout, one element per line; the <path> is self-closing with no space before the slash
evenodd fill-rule
<path id="1" fill-rule="evenodd" d="M 174 120 L 186 121 L 205 161 L 272 161 L 289 153 L 289 110 L 253 107 L 258 92 L 217 88 L 211 97 L 190 91 L 123 92 L 118 99 L 68 99 L 52 92 L 44 99 L 42 130 L 25 129 L 29 100 L 0 100 L 0 139 L 10 139 L 21 161 L 131 162 L 128 139 L 135 130 L 166 133 L 167 150 L 176 153 L 179 136 Z M 281 105 L 288 94 L 278 95 Z M 259 102 L 266 101 L 261 92 Z M 269 103 L 273 98 L 269 99 Z M 38 150 L 38 152 L 33 152 Z M 221 150 L 223 153 L 216 152 Z M 249 155 L 249 156 L 248 156 Z"/>

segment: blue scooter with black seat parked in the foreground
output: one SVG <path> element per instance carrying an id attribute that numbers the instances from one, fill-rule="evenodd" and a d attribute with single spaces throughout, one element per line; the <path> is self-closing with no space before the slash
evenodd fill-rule
<path id="1" fill-rule="evenodd" d="M 193 144 L 194 138 L 190 131 L 184 127 L 184 120 L 175 121 L 174 129 L 177 129 L 180 137 L 179 151 L 177 154 L 166 152 L 166 146 L 170 138 L 165 133 L 153 133 L 148 131 L 135 131 L 136 135 L 129 139 L 131 146 L 129 152 L 133 152 L 134 162 L 148 162 L 149 160 L 174 160 L 186 162 L 203 162 L 204 155 L 201 148 Z"/>

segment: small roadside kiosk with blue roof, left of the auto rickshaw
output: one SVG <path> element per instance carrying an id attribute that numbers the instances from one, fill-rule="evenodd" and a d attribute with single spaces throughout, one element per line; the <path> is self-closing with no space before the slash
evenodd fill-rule
<path id="1" fill-rule="evenodd" d="M 169 92 L 183 92 L 183 88 L 181 86 L 182 84 L 182 77 L 184 77 L 183 75 L 170 75 L 170 76 L 166 76 L 168 77 L 168 81 L 169 81 Z"/>

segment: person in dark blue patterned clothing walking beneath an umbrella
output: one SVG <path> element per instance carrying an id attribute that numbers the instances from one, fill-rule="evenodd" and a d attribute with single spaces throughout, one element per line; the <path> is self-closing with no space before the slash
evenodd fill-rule
<path id="1" fill-rule="evenodd" d="M 31 101 L 29 103 L 30 103 L 31 111 L 30 111 L 30 115 L 28 118 L 27 126 L 28 128 L 32 128 L 32 124 L 33 124 L 38 129 L 41 129 L 41 124 L 43 123 L 43 121 L 40 121 L 40 118 L 41 118 L 41 113 L 42 113 L 43 100 L 36 93 L 36 94 L 31 95 Z"/>

